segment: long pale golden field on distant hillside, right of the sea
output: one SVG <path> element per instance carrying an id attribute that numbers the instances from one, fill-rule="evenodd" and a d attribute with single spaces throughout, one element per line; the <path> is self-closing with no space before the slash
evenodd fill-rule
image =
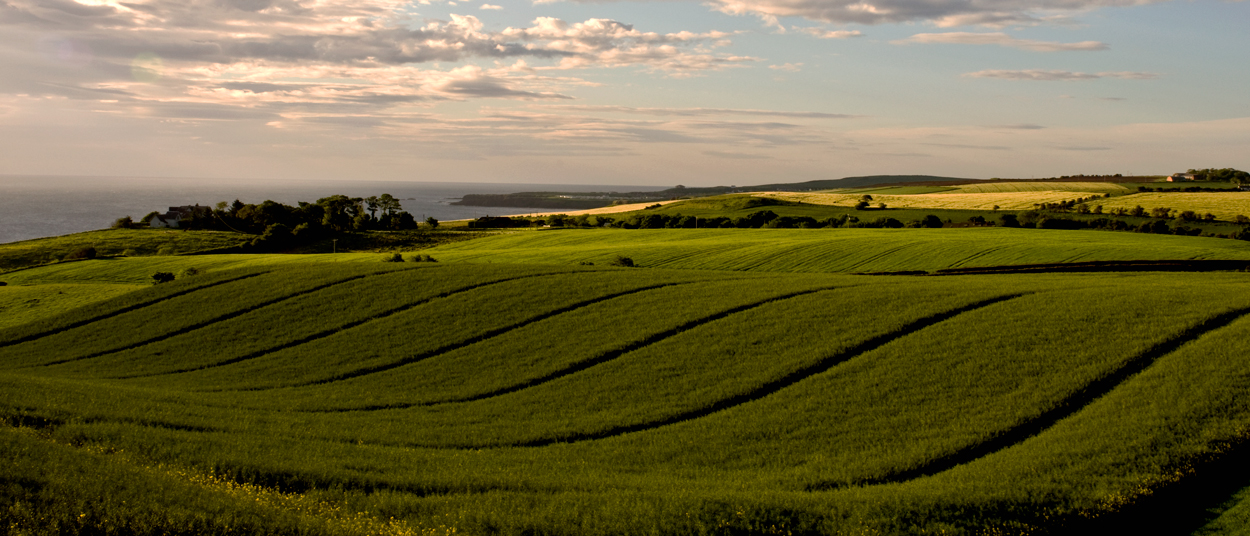
<path id="1" fill-rule="evenodd" d="M 801 201 L 812 205 L 855 206 L 860 194 L 806 194 L 806 192 L 764 192 L 758 196 L 775 197 L 786 201 Z M 1006 191 L 998 194 L 916 194 L 916 195 L 874 195 L 872 205 L 884 202 L 891 209 L 952 209 L 952 210 L 1029 210 L 1035 204 L 1070 201 L 1078 197 L 1091 197 L 1094 192 L 1081 191 Z M 1125 197 L 1128 199 L 1128 197 Z M 1102 199 L 1090 205 L 1102 204 Z M 1110 201 L 1110 200 L 1105 200 Z"/>

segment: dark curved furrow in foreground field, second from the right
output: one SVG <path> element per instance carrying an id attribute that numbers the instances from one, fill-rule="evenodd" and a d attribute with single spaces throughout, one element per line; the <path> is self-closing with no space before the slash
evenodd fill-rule
<path id="1" fill-rule="evenodd" d="M 504 449 L 504 447 L 544 447 L 544 446 L 551 446 L 551 445 L 556 445 L 556 444 L 572 444 L 572 442 L 602 440 L 602 439 L 621 436 L 621 435 L 625 435 L 625 434 L 641 432 L 641 431 L 646 431 L 646 430 L 655 430 L 655 429 L 659 429 L 661 426 L 675 425 L 678 422 L 691 421 L 691 420 L 695 420 L 695 419 L 702 419 L 702 417 L 706 417 L 709 415 L 718 414 L 718 412 L 729 410 L 731 407 L 744 405 L 746 402 L 754 402 L 756 400 L 764 399 L 765 396 L 772 395 L 772 394 L 775 394 L 775 392 L 778 392 L 778 391 L 780 391 L 782 389 L 790 387 L 790 386 L 792 386 L 792 385 L 795 385 L 795 384 L 798 384 L 798 382 L 800 382 L 802 380 L 806 380 L 806 379 L 809 379 L 811 376 L 815 376 L 818 374 L 825 372 L 825 371 L 828 371 L 828 370 L 830 370 L 830 369 L 832 369 L 832 367 L 835 367 L 838 365 L 841 365 L 841 364 L 844 364 L 846 361 L 850 361 L 851 359 L 855 359 L 855 357 L 858 357 L 858 356 L 860 356 L 862 354 L 868 354 L 868 352 L 870 352 L 872 350 L 876 350 L 876 349 L 879 349 L 881 346 L 885 346 L 888 342 L 894 341 L 895 339 L 900 339 L 900 337 L 905 337 L 908 335 L 912 335 L 912 334 L 915 334 L 915 332 L 918 332 L 920 330 L 924 330 L 925 327 L 930 327 L 930 326 L 936 325 L 939 322 L 950 320 L 950 319 L 952 319 L 955 316 L 959 316 L 959 315 L 961 315 L 964 312 L 975 311 L 978 309 L 984 309 L 984 307 L 988 307 L 988 306 L 994 305 L 994 304 L 1001 304 L 1004 301 L 1014 300 L 1014 299 L 1024 296 L 1024 295 L 1025 294 L 1011 294 L 1011 295 L 1006 295 L 1006 296 L 991 297 L 991 299 L 988 299 L 988 300 L 981 300 L 981 301 L 978 301 L 978 302 L 974 302 L 974 304 L 965 305 L 962 307 L 951 309 L 949 311 L 942 311 L 942 312 L 939 312 L 939 314 L 935 314 L 935 315 L 929 315 L 929 316 L 926 316 L 924 319 L 920 319 L 920 320 L 916 320 L 914 322 L 910 322 L 910 324 L 908 324 L 908 325 L 905 325 L 905 326 L 902 326 L 902 327 L 900 327 L 900 329 L 898 329 L 895 331 L 878 335 L 878 336 L 875 336 L 872 339 L 869 339 L 869 340 L 866 340 L 864 342 L 860 342 L 860 344 L 858 344 L 855 346 L 851 346 L 851 347 L 849 347 L 846 350 L 842 350 L 842 351 L 840 351 L 838 354 L 834 354 L 834 355 L 830 355 L 830 356 L 828 356 L 825 359 L 821 359 L 821 360 L 819 360 L 819 361 L 816 361 L 816 362 L 814 362 L 811 365 L 808 365 L 805 367 L 794 370 L 790 374 L 788 374 L 785 376 L 781 376 L 781 377 L 779 377 L 776 380 L 772 380 L 772 381 L 770 381 L 768 384 L 764 384 L 764 385 L 761 385 L 760 387 L 758 387 L 755 390 L 751 390 L 751 391 L 748 391 L 748 392 L 744 392 L 744 394 L 740 394 L 740 395 L 734 395 L 734 396 L 730 396 L 728 399 L 719 400 L 716 402 L 712 402 L 712 404 L 710 404 L 708 406 L 704 406 L 704 407 L 700 407 L 698 410 L 685 411 L 685 412 L 681 412 L 681 414 L 678 414 L 678 415 L 672 415 L 672 416 L 669 416 L 669 417 L 664 417 L 664 419 L 659 419 L 659 420 L 655 420 L 655 421 L 638 422 L 638 424 L 632 424 L 632 425 L 615 426 L 615 427 L 611 427 L 611 429 L 608 429 L 608 430 L 600 430 L 598 432 L 590 432 L 590 434 L 571 434 L 571 435 L 562 436 L 562 437 L 559 437 L 559 439 L 535 439 L 535 440 L 518 441 L 518 442 L 510 442 L 510 444 L 460 445 L 460 446 L 409 444 L 409 445 L 405 445 L 405 446 L 421 447 L 421 449 L 446 449 L 446 450 L 452 450 L 452 449 L 454 450 L 479 450 L 479 449 Z"/>

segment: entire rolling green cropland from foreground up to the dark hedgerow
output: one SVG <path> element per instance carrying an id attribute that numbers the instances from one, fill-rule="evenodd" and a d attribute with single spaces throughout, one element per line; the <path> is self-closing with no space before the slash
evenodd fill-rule
<path id="1" fill-rule="evenodd" d="M 439 262 L 5 274 L 0 526 L 1235 535 L 1250 519 L 1250 274 L 854 275 L 1250 262 L 1242 241 L 585 229 L 421 252 Z"/>

